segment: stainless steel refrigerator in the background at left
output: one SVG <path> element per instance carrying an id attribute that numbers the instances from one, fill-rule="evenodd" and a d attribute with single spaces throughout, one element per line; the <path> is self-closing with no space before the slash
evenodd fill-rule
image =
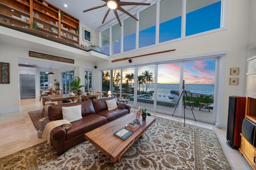
<path id="1" fill-rule="evenodd" d="M 36 75 L 20 74 L 20 99 L 36 98 Z"/>

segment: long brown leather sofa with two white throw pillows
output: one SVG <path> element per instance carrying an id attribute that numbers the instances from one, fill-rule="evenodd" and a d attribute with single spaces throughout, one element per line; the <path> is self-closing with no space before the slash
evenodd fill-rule
<path id="1" fill-rule="evenodd" d="M 44 125 L 50 121 L 63 119 L 62 107 L 82 105 L 82 119 L 71 122 L 72 126 L 69 129 L 65 130 L 62 126 L 59 126 L 52 130 L 51 145 L 54 147 L 57 154 L 60 155 L 67 149 L 85 141 L 84 134 L 86 132 L 130 113 L 131 107 L 129 105 L 126 105 L 125 108 L 121 108 L 120 106 L 122 105 L 123 107 L 124 105 L 118 102 L 116 103 L 120 105 L 120 108 L 118 107 L 109 111 L 106 100 L 114 98 L 116 98 L 116 96 L 50 106 L 48 109 L 48 118 L 43 121 Z"/>

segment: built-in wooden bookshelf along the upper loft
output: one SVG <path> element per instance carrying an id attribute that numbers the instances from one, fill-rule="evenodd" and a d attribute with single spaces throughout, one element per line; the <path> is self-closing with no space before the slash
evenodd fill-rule
<path id="1" fill-rule="evenodd" d="M 61 20 L 62 10 L 45 0 L 0 0 L 0 9 L 0 23 L 8 28 L 58 43 L 68 43 L 69 46 L 79 46 L 79 34 L 76 33 L 79 20 L 66 12 Z M 39 17 L 34 16 L 36 13 Z M 37 30 L 32 29 L 33 23 L 38 23 Z M 68 30 L 62 29 L 61 25 Z M 69 37 L 62 35 L 62 32 Z"/>

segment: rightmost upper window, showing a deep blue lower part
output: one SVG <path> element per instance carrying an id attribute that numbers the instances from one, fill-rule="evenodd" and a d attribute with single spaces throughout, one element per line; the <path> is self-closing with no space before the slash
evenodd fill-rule
<path id="1" fill-rule="evenodd" d="M 220 0 L 187 0 L 186 36 L 220 28 Z"/>

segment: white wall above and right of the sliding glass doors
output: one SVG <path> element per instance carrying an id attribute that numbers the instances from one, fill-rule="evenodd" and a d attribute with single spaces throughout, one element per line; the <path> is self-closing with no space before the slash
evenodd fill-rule
<path id="1" fill-rule="evenodd" d="M 227 51 L 226 62 L 224 68 L 224 98 L 223 98 L 223 126 L 226 126 L 228 119 L 228 100 L 229 96 L 246 96 L 246 68 L 247 68 L 247 47 L 249 39 L 249 24 L 254 19 L 250 19 L 250 2 L 251 1 L 228 1 L 227 10 L 227 28 L 222 31 L 209 33 L 206 35 L 200 35 L 197 37 L 190 37 L 186 39 L 180 39 L 179 41 L 166 43 L 163 45 L 148 47 L 142 50 L 133 51 L 131 53 L 124 53 L 122 55 L 116 55 L 111 57 L 108 63 L 98 63 L 98 68 L 106 68 L 106 65 L 114 68 L 120 66 L 132 66 L 136 64 L 153 63 L 157 60 L 172 61 L 178 57 L 186 56 L 186 58 L 193 57 L 202 53 L 214 53 L 217 51 Z M 253 2 L 255 4 L 255 1 Z M 255 7 L 255 5 L 254 5 Z M 252 8 L 252 10 L 254 10 Z M 253 12 L 255 16 L 255 12 Z M 255 25 L 255 24 L 253 24 Z M 255 29 L 254 29 L 255 34 Z M 255 36 L 254 36 L 255 42 Z M 158 51 L 166 51 L 170 49 L 176 49 L 176 51 L 162 53 L 158 55 L 149 55 L 145 57 L 137 57 L 132 59 L 132 63 L 128 63 L 128 60 L 112 63 L 114 59 L 120 59 L 125 57 L 133 57 L 137 55 L 143 55 L 147 53 L 154 53 Z M 230 68 L 239 67 L 238 86 L 230 86 L 229 78 Z"/>

